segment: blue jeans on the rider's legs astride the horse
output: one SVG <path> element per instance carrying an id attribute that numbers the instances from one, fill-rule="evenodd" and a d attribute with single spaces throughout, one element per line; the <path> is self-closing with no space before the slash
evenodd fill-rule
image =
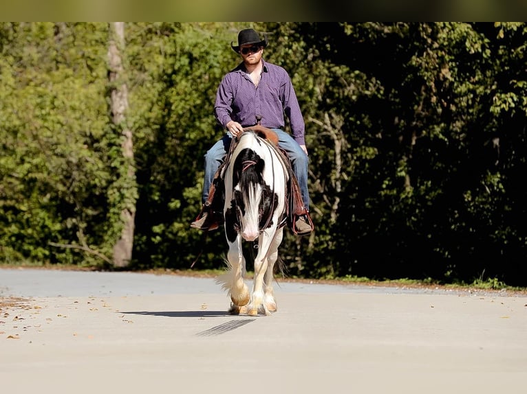
<path id="1" fill-rule="evenodd" d="M 309 210 L 309 192 L 308 192 L 308 163 L 309 157 L 300 148 L 297 141 L 285 131 L 279 128 L 273 128 L 278 135 L 278 143 L 280 148 L 285 150 L 288 154 L 289 160 L 291 161 L 291 167 L 294 176 L 299 181 L 300 192 L 302 194 L 302 200 L 305 209 Z M 211 149 L 204 154 L 205 159 L 205 179 L 203 181 L 203 192 L 202 192 L 202 203 L 204 204 L 208 199 L 208 191 L 211 189 L 211 183 L 214 175 L 216 174 L 219 165 L 224 161 L 225 155 L 230 148 L 230 141 L 233 140 L 233 136 L 230 132 L 226 134 L 215 143 Z"/>

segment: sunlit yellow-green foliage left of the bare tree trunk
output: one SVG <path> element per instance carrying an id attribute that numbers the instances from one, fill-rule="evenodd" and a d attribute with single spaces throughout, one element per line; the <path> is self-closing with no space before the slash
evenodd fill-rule
<path id="1" fill-rule="evenodd" d="M 49 242 L 72 242 L 88 225 L 97 242 L 97 226 L 105 222 L 105 68 L 94 62 L 103 42 L 87 39 L 89 25 L 2 28 L 9 39 L 1 60 L 8 81 L 0 93 L 0 221 L 8 224 L 1 226 L 1 254 L 74 262 L 69 251 Z"/>

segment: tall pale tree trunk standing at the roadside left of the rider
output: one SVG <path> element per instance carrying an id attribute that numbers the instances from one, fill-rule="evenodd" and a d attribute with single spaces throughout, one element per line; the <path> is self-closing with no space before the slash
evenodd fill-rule
<path id="1" fill-rule="evenodd" d="M 133 228 L 136 216 L 136 173 L 133 166 L 133 141 L 132 132 L 127 126 L 126 112 L 128 110 L 128 89 L 122 58 L 125 48 L 125 23 L 110 23 L 109 37 L 109 84 L 111 91 L 111 116 L 116 130 L 122 134 L 122 156 L 125 168 L 120 172 L 124 177 L 120 184 L 127 190 L 122 191 L 125 196 L 122 201 L 121 220 L 122 231 L 114 245 L 114 266 L 128 266 L 131 260 L 133 247 Z M 122 182 L 124 181 L 124 182 Z"/>

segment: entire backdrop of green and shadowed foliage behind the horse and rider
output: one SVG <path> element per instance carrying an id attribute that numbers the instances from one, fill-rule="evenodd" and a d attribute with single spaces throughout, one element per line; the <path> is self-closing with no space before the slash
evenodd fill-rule
<path id="1" fill-rule="evenodd" d="M 288 275 L 526 284 L 525 23 L 127 23 L 135 180 L 107 24 L 1 23 L 0 259 L 100 264 L 52 245 L 109 256 L 125 205 L 135 266 L 221 268 L 222 231 L 189 223 L 244 27 L 305 117 L 316 231 L 286 231 Z"/>

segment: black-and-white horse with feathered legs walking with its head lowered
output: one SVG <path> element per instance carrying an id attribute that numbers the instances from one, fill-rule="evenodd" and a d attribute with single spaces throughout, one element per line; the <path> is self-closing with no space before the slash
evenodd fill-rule
<path id="1" fill-rule="evenodd" d="M 228 253 L 226 273 L 217 277 L 217 283 L 230 295 L 231 314 L 268 316 L 277 311 L 272 281 L 287 220 L 286 162 L 274 143 L 248 128 L 239 136 L 222 172 Z M 244 280 L 244 241 L 255 242 L 257 248 L 252 292 Z"/>

